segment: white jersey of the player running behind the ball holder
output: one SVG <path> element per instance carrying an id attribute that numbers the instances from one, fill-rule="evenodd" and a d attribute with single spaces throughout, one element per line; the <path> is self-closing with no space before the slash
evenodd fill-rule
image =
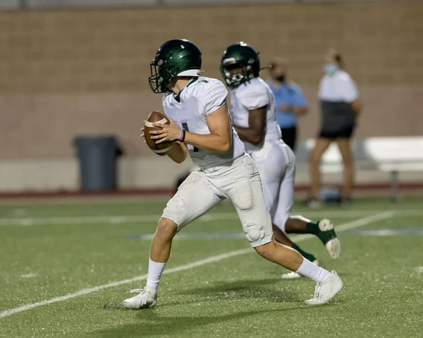
<path id="1" fill-rule="evenodd" d="M 281 128 L 276 121 L 275 97 L 269 85 L 261 78 L 252 78 L 247 83 L 231 90 L 231 105 L 233 124 L 240 127 L 249 127 L 248 111 L 267 107 L 266 131 L 260 145 L 244 142 L 247 152 L 261 150 L 264 143 L 272 140 L 281 140 Z"/>

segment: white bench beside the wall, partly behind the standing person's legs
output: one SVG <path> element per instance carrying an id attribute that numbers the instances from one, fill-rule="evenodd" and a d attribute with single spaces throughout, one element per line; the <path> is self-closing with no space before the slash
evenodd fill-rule
<path id="1" fill-rule="evenodd" d="M 307 162 L 314 147 L 314 139 L 298 144 L 297 162 Z M 423 181 L 423 137 L 384 137 L 353 140 L 353 158 L 356 169 L 372 169 L 391 174 L 391 191 L 394 200 L 399 198 L 399 173 L 419 171 Z M 321 171 L 342 171 L 341 153 L 332 143 L 321 159 Z"/>

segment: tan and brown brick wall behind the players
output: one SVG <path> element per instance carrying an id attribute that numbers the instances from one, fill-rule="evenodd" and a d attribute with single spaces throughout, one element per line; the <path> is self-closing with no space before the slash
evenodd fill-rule
<path id="1" fill-rule="evenodd" d="M 205 76 L 219 77 L 223 49 L 245 40 L 290 60 L 312 111 L 301 138 L 317 133 L 322 56 L 343 52 L 364 113 L 357 136 L 421 135 L 423 3 L 273 4 L 0 12 L 0 159 L 74 154 L 82 133 L 114 133 L 128 155 L 149 154 L 138 128 L 161 98 L 149 61 L 172 38 L 195 42 Z"/>

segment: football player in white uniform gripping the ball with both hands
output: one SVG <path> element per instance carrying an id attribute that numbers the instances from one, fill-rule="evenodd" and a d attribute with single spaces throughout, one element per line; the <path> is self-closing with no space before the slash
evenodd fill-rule
<path id="1" fill-rule="evenodd" d="M 156 143 L 173 141 L 167 152 L 183 162 L 188 151 L 200 169 L 192 172 L 168 201 L 152 239 L 144 289 L 125 299 L 126 308 L 153 308 L 157 289 L 171 253 L 173 237 L 185 225 L 228 198 L 240 217 L 245 236 L 262 257 L 317 282 L 309 305 L 327 303 L 343 288 L 336 272 L 329 272 L 303 258 L 298 251 L 273 239 L 271 218 L 262 193 L 259 171 L 231 126 L 226 106 L 228 91 L 221 81 L 200 77 L 200 49 L 188 40 L 171 40 L 159 48 L 150 64 L 149 84 L 163 92 L 164 113 L 171 123 L 154 123 Z"/>

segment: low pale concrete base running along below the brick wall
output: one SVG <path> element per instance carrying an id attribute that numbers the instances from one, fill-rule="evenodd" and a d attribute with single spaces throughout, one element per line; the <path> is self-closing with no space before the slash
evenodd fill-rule
<path id="1" fill-rule="evenodd" d="M 166 157 L 125 157 L 118 162 L 118 185 L 121 189 L 171 188 L 178 175 L 192 167 L 190 161 L 175 164 Z M 338 168 L 323 167 L 325 184 L 339 184 L 343 174 Z M 391 174 L 369 167 L 356 166 L 356 183 L 360 185 L 390 183 Z M 402 183 L 419 183 L 422 171 L 401 172 Z M 295 184 L 309 184 L 309 169 L 305 162 L 297 165 Z M 1 192 L 76 191 L 80 188 L 79 167 L 76 159 L 35 159 L 0 162 Z"/>

